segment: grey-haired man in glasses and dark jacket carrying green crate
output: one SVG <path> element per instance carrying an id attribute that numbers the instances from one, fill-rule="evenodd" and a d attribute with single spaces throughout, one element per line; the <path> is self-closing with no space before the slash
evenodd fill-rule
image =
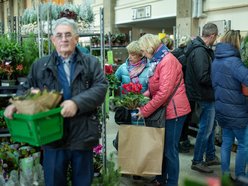
<path id="1" fill-rule="evenodd" d="M 78 38 L 72 19 L 58 19 L 51 37 L 56 50 L 32 65 L 17 92 L 23 94 L 31 87 L 63 92 L 63 138 L 43 147 L 46 186 L 66 186 L 69 163 L 74 186 L 90 186 L 93 179 L 93 147 L 101 136 L 96 110 L 105 99 L 108 83 L 97 58 L 76 47 Z M 14 112 L 10 105 L 5 116 L 12 118 Z"/>

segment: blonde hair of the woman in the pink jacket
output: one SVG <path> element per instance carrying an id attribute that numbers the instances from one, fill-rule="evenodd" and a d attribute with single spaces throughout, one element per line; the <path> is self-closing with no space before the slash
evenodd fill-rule
<path id="1" fill-rule="evenodd" d="M 139 39 L 140 48 L 149 54 L 154 54 L 157 48 L 161 44 L 161 40 L 158 35 L 145 34 Z"/>

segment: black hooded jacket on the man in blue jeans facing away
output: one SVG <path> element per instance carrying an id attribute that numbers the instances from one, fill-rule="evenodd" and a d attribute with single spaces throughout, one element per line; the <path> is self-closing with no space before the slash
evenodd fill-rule
<path id="1" fill-rule="evenodd" d="M 187 57 L 185 85 L 190 101 L 214 101 L 211 82 L 211 63 L 214 53 L 204 41 L 197 37 L 192 41 L 195 48 Z"/>

